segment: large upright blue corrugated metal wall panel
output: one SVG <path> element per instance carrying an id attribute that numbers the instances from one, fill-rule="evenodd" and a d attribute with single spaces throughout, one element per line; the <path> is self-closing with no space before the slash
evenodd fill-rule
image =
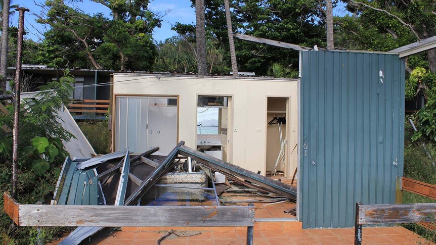
<path id="1" fill-rule="evenodd" d="M 395 203 L 403 176 L 405 64 L 398 55 L 301 54 L 299 215 L 352 227 L 355 203 Z"/>

